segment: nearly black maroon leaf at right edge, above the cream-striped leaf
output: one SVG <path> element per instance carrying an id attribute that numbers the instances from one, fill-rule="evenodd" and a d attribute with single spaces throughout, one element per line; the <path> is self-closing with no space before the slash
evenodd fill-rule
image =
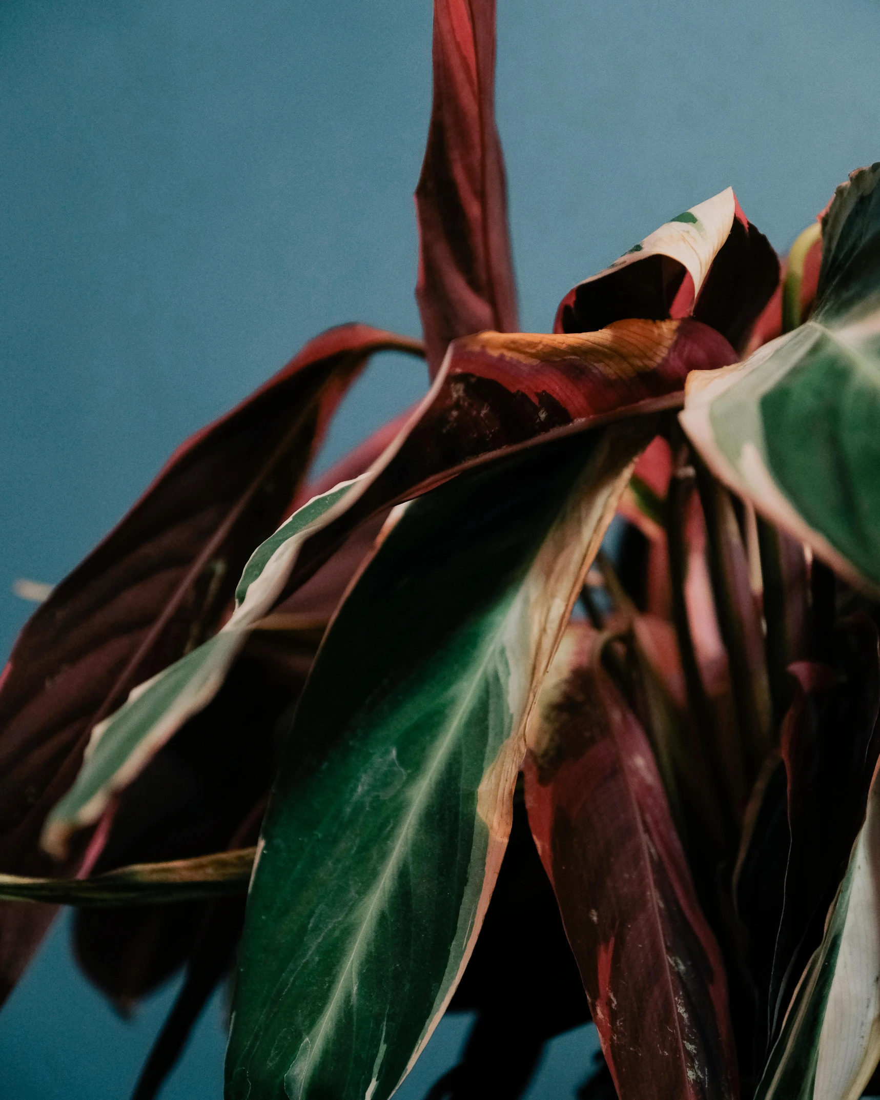
<path id="1" fill-rule="evenodd" d="M 790 669 L 795 689 L 781 754 L 791 842 L 769 983 L 771 1041 L 822 941 L 880 754 L 880 651 L 877 627 L 866 615 L 840 624 L 835 658 L 834 668 L 800 661 Z"/>

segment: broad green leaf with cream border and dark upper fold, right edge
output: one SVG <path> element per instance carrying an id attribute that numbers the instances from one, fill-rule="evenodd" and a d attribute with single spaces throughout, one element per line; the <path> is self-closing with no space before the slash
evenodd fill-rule
<path id="1" fill-rule="evenodd" d="M 880 586 L 880 164 L 823 219 L 816 305 L 746 362 L 689 382 L 684 430 L 713 472 L 853 584 Z"/>

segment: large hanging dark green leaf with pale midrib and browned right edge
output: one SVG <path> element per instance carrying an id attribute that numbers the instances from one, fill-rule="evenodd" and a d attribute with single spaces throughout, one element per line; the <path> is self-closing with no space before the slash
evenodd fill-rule
<path id="1" fill-rule="evenodd" d="M 656 421 L 528 447 L 413 502 L 324 639 L 264 824 L 230 1100 L 385 1100 L 466 965 L 525 723 Z"/>

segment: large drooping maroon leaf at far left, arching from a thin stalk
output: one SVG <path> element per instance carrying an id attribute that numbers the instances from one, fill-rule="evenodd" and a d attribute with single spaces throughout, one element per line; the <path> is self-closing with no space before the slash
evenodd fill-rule
<path id="1" fill-rule="evenodd" d="M 284 518 L 328 420 L 374 351 L 418 342 L 367 326 L 307 344 L 194 436 L 22 630 L 0 688 L 0 868 L 69 873 L 37 849 L 88 733 L 136 683 L 217 628 L 251 551 Z M 95 853 L 92 853 L 95 854 Z M 53 910 L 0 905 L 0 1000 Z"/>

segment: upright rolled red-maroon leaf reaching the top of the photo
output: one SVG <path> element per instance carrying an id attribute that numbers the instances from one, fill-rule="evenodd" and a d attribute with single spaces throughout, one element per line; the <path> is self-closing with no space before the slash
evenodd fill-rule
<path id="1" fill-rule="evenodd" d="M 433 102 L 416 188 L 416 298 L 431 377 L 457 337 L 519 328 L 494 89 L 495 0 L 437 0 Z"/>

